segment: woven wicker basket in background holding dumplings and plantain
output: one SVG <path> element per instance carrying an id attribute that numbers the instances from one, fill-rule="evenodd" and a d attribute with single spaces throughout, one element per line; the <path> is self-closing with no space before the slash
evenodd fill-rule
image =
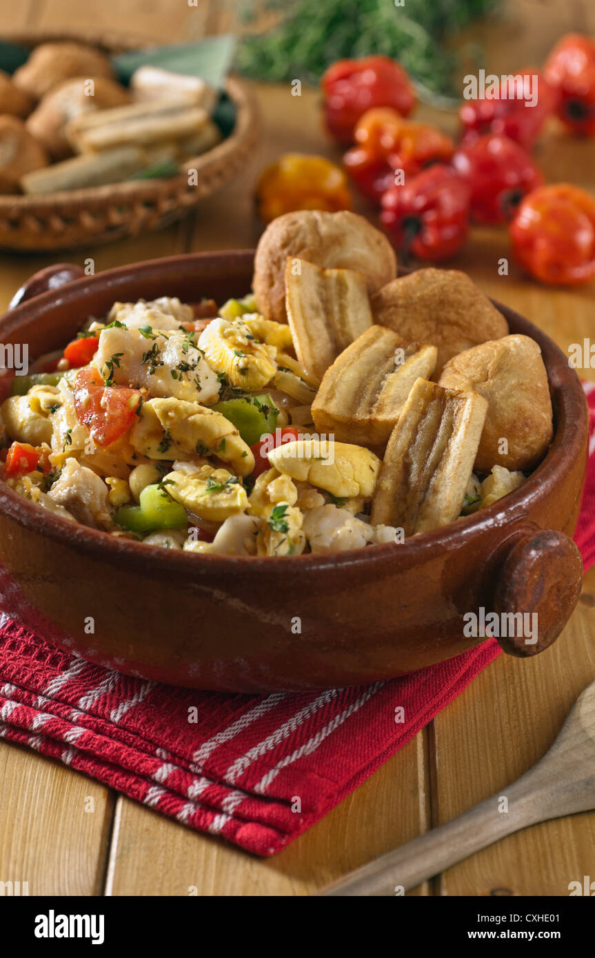
<path id="1" fill-rule="evenodd" d="M 29 47 L 48 40 L 79 40 L 110 54 L 155 45 L 136 37 L 98 36 L 89 31 L 5 31 L 3 38 Z M 161 229 L 184 217 L 242 170 L 259 135 L 258 107 L 252 93 L 233 78 L 227 80 L 226 89 L 236 105 L 232 133 L 217 147 L 185 160 L 179 176 L 47 195 L 0 195 L 0 248 L 31 252 L 72 249 Z M 196 186 L 189 186 L 189 168 L 197 171 Z"/>

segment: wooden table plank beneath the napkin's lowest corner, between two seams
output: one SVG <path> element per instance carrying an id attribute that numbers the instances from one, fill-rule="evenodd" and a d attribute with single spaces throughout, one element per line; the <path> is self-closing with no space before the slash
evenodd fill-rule
<path id="1" fill-rule="evenodd" d="M 423 832 L 424 733 L 273 858 L 246 855 L 119 799 L 106 895 L 309 895 Z M 429 894 L 424 884 L 412 894 Z"/>

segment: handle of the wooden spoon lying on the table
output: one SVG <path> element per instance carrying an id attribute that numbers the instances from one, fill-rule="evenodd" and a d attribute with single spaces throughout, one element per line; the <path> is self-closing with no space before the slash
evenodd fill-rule
<path id="1" fill-rule="evenodd" d="M 547 815 L 543 814 L 539 803 L 532 800 L 530 780 L 533 771 L 507 787 L 504 795 L 492 795 L 445 825 L 419 835 L 394 852 L 381 855 L 347 878 L 340 878 L 318 894 L 334 897 L 400 895 L 424 879 L 432 878 L 492 845 L 499 838 L 541 821 Z"/>

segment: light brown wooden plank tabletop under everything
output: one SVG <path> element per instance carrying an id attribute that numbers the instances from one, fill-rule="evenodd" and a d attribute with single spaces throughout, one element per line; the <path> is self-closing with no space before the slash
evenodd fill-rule
<path id="1" fill-rule="evenodd" d="M 195 38 L 229 25 L 217 0 L 21 0 L 4 5 L 2 29 L 23 26 L 118 29 L 161 42 Z M 469 36 L 485 45 L 495 73 L 539 63 L 569 30 L 595 33 L 595 11 L 516 0 L 495 22 Z M 461 43 L 466 38 L 462 37 Z M 259 235 L 252 214 L 258 171 L 288 149 L 337 156 L 321 130 L 317 94 L 256 86 L 263 142 L 252 166 L 195 215 L 157 234 L 55 257 L 0 254 L 0 308 L 34 270 L 92 257 L 96 271 L 188 250 L 250 247 Z M 454 118 L 427 107 L 420 116 L 444 129 Z M 595 141 L 577 142 L 552 121 L 538 148 L 550 181 L 593 189 Z M 363 212 L 371 212 L 360 207 Z M 506 231 L 474 230 L 452 265 L 496 299 L 526 315 L 567 351 L 595 339 L 593 285 L 545 289 L 524 278 L 508 256 Z M 595 371 L 584 371 L 595 379 Z M 285 852 L 246 855 L 135 804 L 33 751 L 0 741 L 0 879 L 28 880 L 32 895 L 307 895 L 333 878 L 504 790 L 548 748 L 574 699 L 595 678 L 595 570 L 558 643 L 535 659 L 501 655 L 413 741 Z M 89 798 L 93 802 L 89 802 Z M 93 811 L 89 811 L 89 808 Z M 419 895 L 567 895 L 568 883 L 595 875 L 595 812 L 535 826 L 473 855 L 425 883 Z"/>

